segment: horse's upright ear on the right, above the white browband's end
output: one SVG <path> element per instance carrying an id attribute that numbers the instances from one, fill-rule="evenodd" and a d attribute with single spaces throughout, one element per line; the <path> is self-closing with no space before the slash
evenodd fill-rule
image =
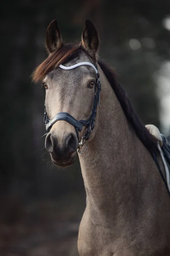
<path id="1" fill-rule="evenodd" d="M 94 24 L 90 20 L 85 21 L 85 28 L 82 32 L 82 46 L 90 53 L 95 54 L 99 47 L 99 37 Z"/>

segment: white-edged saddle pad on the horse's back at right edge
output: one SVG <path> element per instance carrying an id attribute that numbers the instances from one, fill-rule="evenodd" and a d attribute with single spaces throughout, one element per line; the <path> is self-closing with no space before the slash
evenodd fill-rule
<path id="1" fill-rule="evenodd" d="M 145 125 L 145 127 L 158 140 L 159 154 L 164 164 L 167 187 L 170 192 L 170 143 L 155 125 Z"/>

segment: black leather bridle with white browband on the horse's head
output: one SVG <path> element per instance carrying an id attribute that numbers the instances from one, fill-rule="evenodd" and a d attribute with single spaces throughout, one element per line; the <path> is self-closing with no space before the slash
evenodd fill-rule
<path id="1" fill-rule="evenodd" d="M 100 108 L 101 84 L 100 84 L 100 80 L 99 80 L 99 73 L 98 73 L 97 68 L 91 62 L 79 62 L 79 63 L 77 63 L 73 66 L 70 66 L 70 67 L 65 67 L 63 65 L 59 65 L 59 67 L 64 69 L 64 70 L 71 70 L 71 69 L 74 69 L 74 68 L 82 66 L 82 65 L 87 65 L 87 66 L 93 67 L 95 72 L 96 72 L 96 75 L 97 75 L 96 86 L 95 86 L 95 91 L 94 91 L 93 108 L 92 108 L 92 112 L 91 112 L 91 115 L 89 116 L 89 118 L 87 120 L 78 121 L 73 116 L 71 116 L 69 113 L 60 112 L 60 113 L 57 113 L 57 115 L 55 115 L 52 119 L 49 119 L 48 115 L 47 115 L 47 112 L 46 112 L 46 109 L 44 111 L 44 123 L 45 123 L 45 128 L 46 128 L 47 134 L 51 130 L 51 127 L 54 125 L 55 122 L 57 122 L 59 120 L 64 120 L 64 121 L 66 121 L 66 122 L 68 122 L 68 123 L 70 123 L 71 125 L 74 126 L 74 128 L 76 130 L 77 138 L 78 138 L 78 141 L 79 141 L 79 132 L 82 131 L 83 126 L 86 127 L 85 133 L 79 141 L 78 152 L 80 154 L 84 153 L 87 149 L 87 146 L 88 146 L 87 141 L 88 141 L 88 139 L 90 137 L 90 134 L 93 131 L 94 125 L 95 125 L 97 106 L 99 105 L 99 108 Z M 46 134 L 44 134 L 44 136 L 45 135 Z M 85 141 L 86 141 L 85 150 L 81 151 L 82 146 L 84 145 Z"/>

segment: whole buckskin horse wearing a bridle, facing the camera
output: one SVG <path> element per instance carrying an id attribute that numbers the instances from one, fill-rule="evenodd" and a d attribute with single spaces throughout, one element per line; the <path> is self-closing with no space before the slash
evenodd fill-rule
<path id="1" fill-rule="evenodd" d="M 170 201 L 157 141 L 99 59 L 94 24 L 85 21 L 79 44 L 64 44 L 54 20 L 45 45 L 48 57 L 33 81 L 46 91 L 52 163 L 67 167 L 79 156 L 87 198 L 79 255 L 170 256 Z"/>

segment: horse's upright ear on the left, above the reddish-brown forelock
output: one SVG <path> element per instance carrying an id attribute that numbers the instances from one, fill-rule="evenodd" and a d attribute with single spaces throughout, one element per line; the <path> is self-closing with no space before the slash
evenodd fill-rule
<path id="1" fill-rule="evenodd" d="M 57 21 L 53 20 L 47 28 L 45 45 L 48 53 L 54 52 L 62 46 L 62 37 L 57 26 Z"/>

